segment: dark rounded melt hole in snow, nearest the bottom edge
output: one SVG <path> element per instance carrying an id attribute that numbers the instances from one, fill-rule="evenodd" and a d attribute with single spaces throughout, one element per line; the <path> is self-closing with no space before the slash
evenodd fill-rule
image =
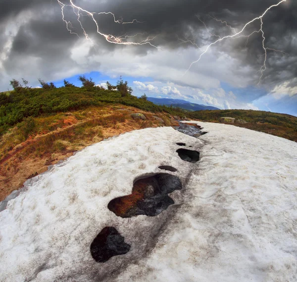
<path id="1" fill-rule="evenodd" d="M 91 244 L 91 254 L 97 262 L 106 262 L 113 256 L 126 254 L 130 247 L 114 227 L 104 227 Z"/>

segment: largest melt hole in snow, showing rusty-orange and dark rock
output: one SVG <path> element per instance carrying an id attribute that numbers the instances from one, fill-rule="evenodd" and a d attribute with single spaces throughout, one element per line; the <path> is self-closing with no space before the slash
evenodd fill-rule
<path id="1" fill-rule="evenodd" d="M 156 216 L 174 204 L 168 194 L 180 189 L 182 183 L 177 176 L 159 173 L 137 180 L 132 194 L 111 200 L 108 209 L 123 218 Z"/>

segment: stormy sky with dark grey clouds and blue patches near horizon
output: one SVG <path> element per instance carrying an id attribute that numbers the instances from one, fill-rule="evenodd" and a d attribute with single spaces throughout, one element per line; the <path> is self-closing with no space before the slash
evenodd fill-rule
<path id="1" fill-rule="evenodd" d="M 96 83 L 102 84 L 122 75 L 135 95 L 146 93 L 222 109 L 261 109 L 297 116 L 297 0 L 271 8 L 262 19 L 264 46 L 269 49 L 260 83 L 259 70 L 265 59 L 260 20 L 248 25 L 242 35 L 259 32 L 212 45 L 186 72 L 209 44 L 239 32 L 278 2 L 73 0 L 75 5 L 95 12 L 100 33 L 116 37 L 137 34 L 125 42 L 149 38 L 153 39 L 152 47 L 107 42 L 97 33 L 92 18 L 81 11 L 81 23 L 90 38 L 87 40 L 75 15 L 77 9 L 65 6 L 64 19 L 71 22 L 71 34 L 62 20 L 58 0 L 2 0 L 0 91 L 10 88 L 12 78 L 25 78 L 36 87 L 37 78 L 59 85 L 64 78 L 96 73 Z M 115 23 L 111 14 L 100 12 L 112 12 L 116 20 L 139 22 Z"/>

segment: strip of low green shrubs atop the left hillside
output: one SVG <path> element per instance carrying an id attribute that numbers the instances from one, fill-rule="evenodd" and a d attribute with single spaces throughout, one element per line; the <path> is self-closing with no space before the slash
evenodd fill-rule
<path id="1" fill-rule="evenodd" d="M 104 106 L 120 103 L 153 113 L 165 111 L 179 114 L 178 110 L 157 106 L 145 99 L 128 95 L 121 97 L 119 92 L 94 87 L 91 91 L 78 87 L 55 89 L 21 89 L 9 95 L 0 94 L 0 135 L 28 117 L 39 117 L 52 113 L 83 109 L 91 105 Z M 184 114 L 183 114 L 184 115 Z M 28 120 L 28 128 L 33 127 Z"/>

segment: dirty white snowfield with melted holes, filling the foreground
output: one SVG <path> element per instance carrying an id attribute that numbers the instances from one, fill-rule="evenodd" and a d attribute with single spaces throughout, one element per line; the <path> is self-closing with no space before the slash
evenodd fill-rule
<path id="1" fill-rule="evenodd" d="M 198 124 L 208 132 L 199 139 L 134 131 L 33 178 L 0 212 L 0 281 L 297 281 L 297 143 Z M 182 160 L 177 142 L 200 160 Z M 182 183 L 166 210 L 122 218 L 107 208 L 159 173 Z M 90 246 L 103 230 L 125 254 L 100 263 Z"/>

